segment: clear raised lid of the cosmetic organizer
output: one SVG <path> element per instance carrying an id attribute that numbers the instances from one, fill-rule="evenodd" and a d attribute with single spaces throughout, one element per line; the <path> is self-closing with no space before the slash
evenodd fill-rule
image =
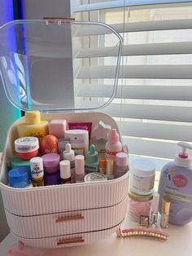
<path id="1" fill-rule="evenodd" d="M 24 111 L 103 108 L 116 95 L 121 47 L 120 35 L 102 23 L 4 24 L 0 73 L 7 98 Z M 103 65 L 112 67 L 112 72 L 104 72 Z"/>

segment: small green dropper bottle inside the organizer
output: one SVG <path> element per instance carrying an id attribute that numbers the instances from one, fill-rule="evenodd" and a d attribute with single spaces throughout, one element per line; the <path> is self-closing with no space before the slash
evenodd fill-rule
<path id="1" fill-rule="evenodd" d="M 98 172 L 98 152 L 94 144 L 90 145 L 89 152 L 85 158 L 85 173 Z"/>

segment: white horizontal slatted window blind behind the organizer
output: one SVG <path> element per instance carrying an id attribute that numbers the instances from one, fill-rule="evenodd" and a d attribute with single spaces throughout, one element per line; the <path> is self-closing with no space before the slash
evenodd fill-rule
<path id="1" fill-rule="evenodd" d="M 115 118 L 130 153 L 172 158 L 178 141 L 192 141 L 192 3 L 85 1 L 75 8 L 74 2 L 77 20 L 110 24 L 124 39 L 116 98 L 102 111 Z M 99 29 L 80 34 L 90 41 L 76 54 L 84 60 L 78 96 L 107 100 L 114 47 L 107 35 L 99 41 Z"/>

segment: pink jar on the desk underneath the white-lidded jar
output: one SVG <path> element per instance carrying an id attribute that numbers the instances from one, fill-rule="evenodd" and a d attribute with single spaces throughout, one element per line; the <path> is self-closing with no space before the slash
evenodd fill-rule
<path id="1" fill-rule="evenodd" d="M 151 201 L 153 195 L 141 196 L 133 192 L 129 192 L 129 217 L 139 222 L 141 215 L 150 216 Z"/>

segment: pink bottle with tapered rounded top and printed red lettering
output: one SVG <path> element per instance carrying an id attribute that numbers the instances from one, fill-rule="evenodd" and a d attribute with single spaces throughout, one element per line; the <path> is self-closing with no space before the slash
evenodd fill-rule
<path id="1" fill-rule="evenodd" d="M 105 145 L 105 157 L 116 161 L 116 153 L 121 151 L 122 144 L 120 143 L 120 135 L 118 135 L 116 129 L 111 129 L 109 131 L 108 140 Z"/>

